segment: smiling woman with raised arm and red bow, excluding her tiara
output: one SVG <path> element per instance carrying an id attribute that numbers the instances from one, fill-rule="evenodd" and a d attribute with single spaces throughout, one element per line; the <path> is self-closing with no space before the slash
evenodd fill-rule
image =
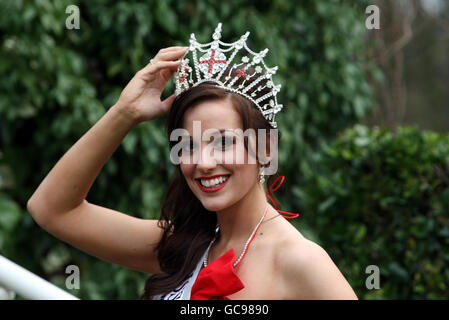
<path id="1" fill-rule="evenodd" d="M 185 60 L 173 61 L 187 51 L 162 49 L 136 73 L 117 103 L 69 149 L 32 195 L 27 207 L 33 218 L 91 255 L 152 273 L 144 299 L 357 299 L 328 254 L 268 204 L 261 159 L 250 152 L 254 141 L 232 135 L 234 129 L 269 129 L 273 122 L 252 101 L 213 82 L 160 100 L 176 69 L 177 76 L 188 70 Z M 238 77 L 235 70 L 229 74 Z M 234 85 L 243 81 L 242 76 Z M 87 202 L 95 178 L 126 134 L 168 112 L 169 134 L 184 128 L 192 137 L 195 121 L 202 134 L 208 129 L 229 130 L 212 144 L 193 139 L 183 145 L 160 220 L 138 219 Z M 272 138 L 268 145 L 277 144 Z M 173 148 L 175 142 L 170 144 Z M 204 152 L 207 145 L 220 149 L 221 158 Z M 238 145 L 245 146 L 240 154 L 244 163 L 237 163 L 234 154 L 231 161 L 222 161 L 229 160 L 228 152 Z M 198 150 L 197 162 L 186 161 Z M 250 159 L 257 161 L 253 164 Z M 215 176 L 221 178 L 211 179 Z"/>

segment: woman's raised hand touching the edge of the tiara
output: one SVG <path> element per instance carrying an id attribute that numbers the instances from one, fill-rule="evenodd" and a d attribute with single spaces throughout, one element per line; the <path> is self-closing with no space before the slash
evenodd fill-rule
<path id="1" fill-rule="evenodd" d="M 167 113 L 174 94 L 161 101 L 168 80 L 176 71 L 188 47 L 168 47 L 159 50 L 152 63 L 139 70 L 120 94 L 116 106 L 130 112 L 138 122 L 149 121 Z"/>

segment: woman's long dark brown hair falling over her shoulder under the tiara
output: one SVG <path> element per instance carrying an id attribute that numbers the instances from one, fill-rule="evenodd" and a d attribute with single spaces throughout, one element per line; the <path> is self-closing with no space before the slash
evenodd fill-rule
<path id="1" fill-rule="evenodd" d="M 252 74 L 254 69 L 248 68 L 247 71 Z M 224 74 L 228 73 L 224 72 Z M 236 76 L 236 73 L 232 72 L 231 75 Z M 264 79 L 259 83 L 263 86 L 266 81 Z M 243 77 L 240 77 L 233 87 L 237 88 L 242 82 Z M 247 85 L 248 83 L 246 83 Z M 269 92 L 269 89 L 256 91 L 257 87 L 254 86 L 255 99 Z M 248 94 L 251 94 L 251 92 L 248 92 Z M 203 82 L 182 92 L 175 98 L 167 118 L 168 138 L 174 129 L 183 127 L 184 114 L 188 108 L 206 100 L 217 99 L 230 99 L 240 113 L 243 131 L 252 128 L 256 132 L 258 129 L 266 129 L 266 132 L 269 132 L 271 129 L 268 121 L 249 99 L 219 88 L 213 82 Z M 280 138 L 281 133 L 278 131 L 278 139 Z M 170 148 L 176 143 L 176 141 L 170 141 L 169 139 Z M 244 145 L 248 150 L 247 137 L 244 139 Z M 267 150 L 270 149 L 267 148 Z M 177 170 L 175 170 L 174 177 L 165 194 L 158 221 L 159 227 L 163 228 L 164 232 L 154 249 L 157 251 L 162 273 L 153 274 L 146 281 L 141 299 L 150 299 L 154 295 L 171 292 L 180 286 L 193 272 L 210 241 L 215 236 L 216 213 L 204 208 L 188 186 L 180 166 L 176 165 L 176 167 Z M 267 179 L 268 186 L 278 176 L 278 174 L 269 176 Z M 271 198 L 276 206 L 280 207 L 276 197 L 271 195 Z"/>

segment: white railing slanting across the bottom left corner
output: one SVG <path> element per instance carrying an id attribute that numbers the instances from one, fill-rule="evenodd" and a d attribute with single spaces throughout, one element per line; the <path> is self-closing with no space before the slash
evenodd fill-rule
<path id="1" fill-rule="evenodd" d="M 31 300 L 79 300 L 34 273 L 0 255 L 0 295 L 14 299 L 15 293 Z"/>

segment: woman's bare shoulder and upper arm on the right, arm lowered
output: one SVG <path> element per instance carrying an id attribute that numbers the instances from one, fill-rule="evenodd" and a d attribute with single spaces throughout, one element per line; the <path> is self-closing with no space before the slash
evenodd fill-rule
<path id="1" fill-rule="evenodd" d="M 357 299 L 326 250 L 299 231 L 280 239 L 277 260 L 285 299 Z"/>

